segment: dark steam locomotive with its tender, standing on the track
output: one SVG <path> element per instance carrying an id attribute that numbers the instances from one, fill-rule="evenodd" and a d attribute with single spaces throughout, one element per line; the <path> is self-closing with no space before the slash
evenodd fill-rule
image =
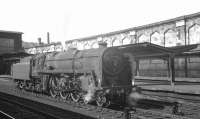
<path id="1" fill-rule="evenodd" d="M 12 75 L 21 89 L 98 106 L 125 103 L 132 89 L 130 57 L 117 47 L 25 57 L 13 65 Z"/>

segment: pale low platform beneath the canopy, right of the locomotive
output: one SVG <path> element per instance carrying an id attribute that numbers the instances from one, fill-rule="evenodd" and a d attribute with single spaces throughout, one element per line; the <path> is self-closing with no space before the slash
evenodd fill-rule
<path id="1" fill-rule="evenodd" d="M 135 79 L 135 85 L 146 90 L 200 95 L 200 78 L 176 78 L 174 85 L 167 77 L 137 76 Z"/>

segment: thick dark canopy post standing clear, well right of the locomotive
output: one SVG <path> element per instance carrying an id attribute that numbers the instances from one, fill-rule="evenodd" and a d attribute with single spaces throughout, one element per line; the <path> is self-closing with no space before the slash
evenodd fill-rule
<path id="1" fill-rule="evenodd" d="M 175 67 L 174 67 L 174 55 L 169 56 L 169 68 L 170 68 L 170 78 L 171 85 L 174 86 L 175 83 Z"/>

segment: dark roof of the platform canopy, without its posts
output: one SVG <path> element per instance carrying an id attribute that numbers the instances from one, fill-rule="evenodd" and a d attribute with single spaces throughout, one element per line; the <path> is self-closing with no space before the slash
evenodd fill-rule
<path id="1" fill-rule="evenodd" d="M 169 56 L 185 56 L 187 53 L 194 53 L 196 45 L 163 47 L 149 42 L 117 46 L 123 53 L 131 53 L 135 58 L 168 58 Z M 200 47 L 199 47 L 200 49 Z M 195 50 L 196 51 L 196 50 Z M 199 50 L 200 51 L 200 50 Z"/>

